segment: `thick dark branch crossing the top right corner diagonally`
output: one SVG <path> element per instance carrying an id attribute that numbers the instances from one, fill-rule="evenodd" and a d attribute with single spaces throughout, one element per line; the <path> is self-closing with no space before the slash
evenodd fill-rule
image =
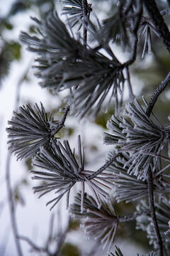
<path id="1" fill-rule="evenodd" d="M 149 16 L 152 18 L 152 21 L 154 22 L 154 25 L 157 28 L 157 33 L 159 33 L 159 37 L 162 38 L 164 46 L 166 46 L 166 49 L 170 53 L 169 28 L 166 26 L 164 18 L 160 14 L 157 4 L 155 3 L 154 0 L 143 0 L 143 3 L 145 4 Z"/>

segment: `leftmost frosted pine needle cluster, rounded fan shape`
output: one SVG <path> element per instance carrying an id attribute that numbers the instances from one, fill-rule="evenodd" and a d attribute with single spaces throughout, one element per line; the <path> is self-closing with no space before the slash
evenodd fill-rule
<path id="1" fill-rule="evenodd" d="M 13 111 L 13 117 L 8 121 L 8 149 L 14 152 L 17 159 L 30 159 L 42 146 L 50 143 L 51 132 L 57 123 L 51 115 L 47 115 L 42 103 L 40 107 L 35 103 L 34 107 L 29 104 Z"/>

